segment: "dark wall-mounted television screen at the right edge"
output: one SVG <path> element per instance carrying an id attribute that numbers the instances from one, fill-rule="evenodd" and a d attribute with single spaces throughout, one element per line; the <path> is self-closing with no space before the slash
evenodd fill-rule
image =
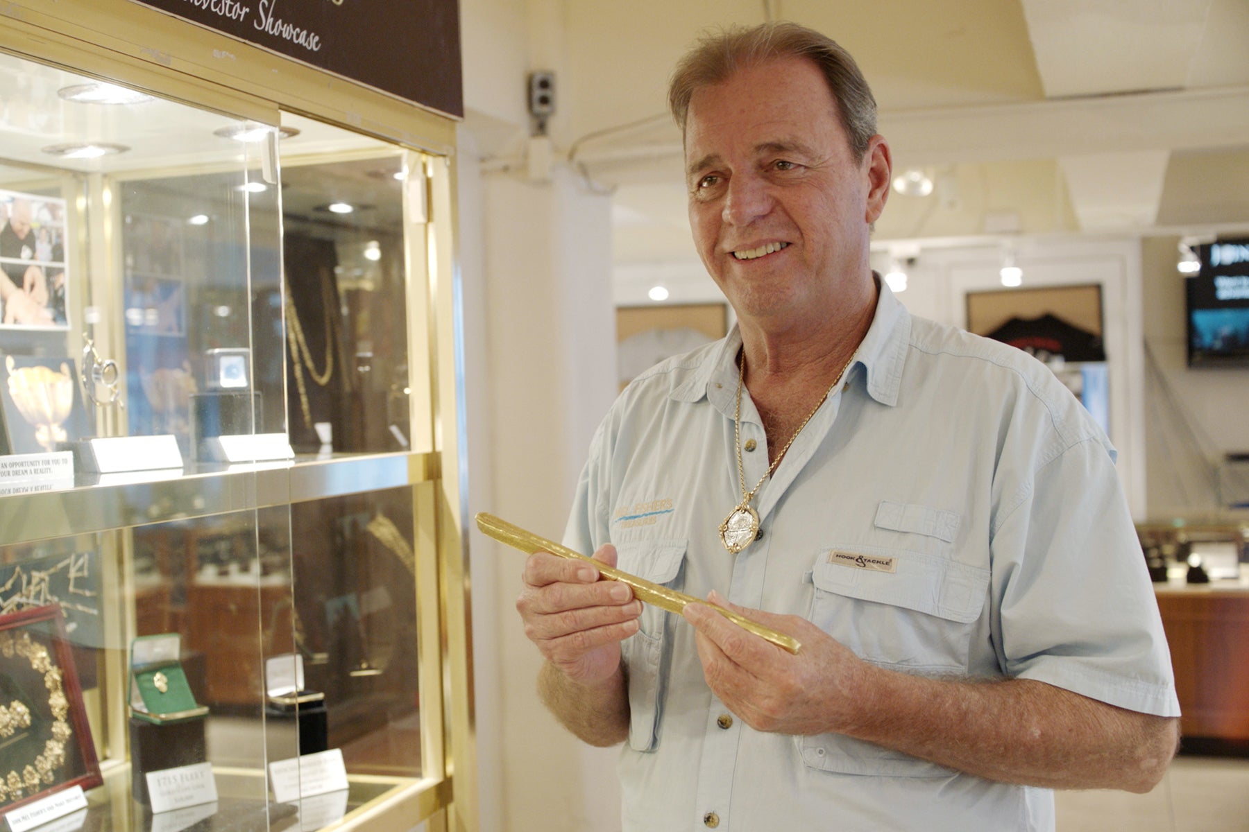
<path id="1" fill-rule="evenodd" d="M 1249 238 L 1198 247 L 1185 281 L 1189 367 L 1249 367 Z"/>

